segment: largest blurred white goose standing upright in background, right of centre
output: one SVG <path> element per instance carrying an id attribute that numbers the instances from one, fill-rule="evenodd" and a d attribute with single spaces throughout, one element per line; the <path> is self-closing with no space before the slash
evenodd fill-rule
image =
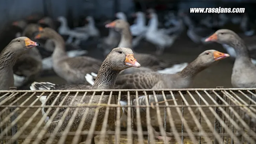
<path id="1" fill-rule="evenodd" d="M 158 31 L 158 28 L 155 26 L 156 23 L 158 23 L 157 14 L 152 12 L 150 13 L 150 17 L 151 19 L 145 38 L 148 42 L 156 45 L 156 54 L 160 55 L 163 53 L 165 47 L 170 47 L 175 42 L 177 35 L 173 34 L 172 36 L 169 36 L 163 31 Z"/>

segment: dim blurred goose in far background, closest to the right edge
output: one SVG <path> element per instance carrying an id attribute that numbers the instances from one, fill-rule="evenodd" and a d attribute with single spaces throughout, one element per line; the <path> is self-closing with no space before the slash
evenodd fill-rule
<path id="1" fill-rule="evenodd" d="M 240 28 L 243 30 L 244 35 L 252 36 L 254 35 L 255 31 L 252 29 L 251 23 L 249 21 L 249 17 L 246 13 L 243 14 L 241 19 Z"/>

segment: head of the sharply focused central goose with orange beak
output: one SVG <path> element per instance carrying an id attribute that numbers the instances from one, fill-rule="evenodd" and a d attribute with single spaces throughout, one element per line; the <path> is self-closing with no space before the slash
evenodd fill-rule
<path id="1" fill-rule="evenodd" d="M 140 64 L 133 56 L 132 49 L 118 47 L 112 49 L 112 51 L 106 57 L 107 61 L 111 62 L 113 70 L 124 70 L 129 67 L 140 67 Z"/>

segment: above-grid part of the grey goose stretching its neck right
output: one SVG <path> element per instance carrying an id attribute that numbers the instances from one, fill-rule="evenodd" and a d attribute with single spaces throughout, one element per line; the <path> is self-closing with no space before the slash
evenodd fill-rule
<path id="1" fill-rule="evenodd" d="M 229 54 L 216 50 L 206 50 L 188 64 L 185 69 L 176 74 L 161 74 L 157 72 L 132 73 L 119 75 L 115 88 L 120 89 L 159 89 L 188 88 L 195 76 L 216 61 L 229 57 Z M 150 81 L 150 83 L 149 83 Z"/>

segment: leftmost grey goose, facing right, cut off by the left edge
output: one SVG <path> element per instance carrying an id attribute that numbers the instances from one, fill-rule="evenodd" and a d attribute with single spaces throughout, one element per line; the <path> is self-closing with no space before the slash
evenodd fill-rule
<path id="1" fill-rule="evenodd" d="M 13 39 L 0 53 L 0 90 L 9 90 L 14 87 L 13 66 L 17 64 L 20 56 L 27 50 L 39 46 L 29 38 L 22 36 Z"/>

